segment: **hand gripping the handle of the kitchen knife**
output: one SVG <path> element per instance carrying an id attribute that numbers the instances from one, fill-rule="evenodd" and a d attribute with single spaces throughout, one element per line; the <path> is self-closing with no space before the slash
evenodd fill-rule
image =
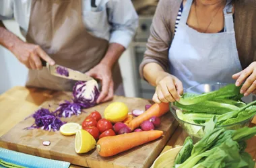
<path id="1" fill-rule="evenodd" d="M 20 41 L 15 42 L 10 50 L 28 69 L 42 69 L 40 58 L 49 62 L 50 65 L 55 65 L 55 61 L 38 45 Z"/>

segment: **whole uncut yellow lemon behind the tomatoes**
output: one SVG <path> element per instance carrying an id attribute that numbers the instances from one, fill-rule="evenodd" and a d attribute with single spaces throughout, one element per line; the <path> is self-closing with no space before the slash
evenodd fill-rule
<path id="1" fill-rule="evenodd" d="M 104 118 L 110 122 L 123 122 L 127 118 L 128 107 L 122 102 L 110 103 L 104 110 Z"/>

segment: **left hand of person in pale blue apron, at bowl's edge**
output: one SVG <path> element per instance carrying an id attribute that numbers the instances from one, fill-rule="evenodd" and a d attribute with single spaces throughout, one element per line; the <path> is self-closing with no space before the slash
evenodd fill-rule
<path id="1" fill-rule="evenodd" d="M 156 92 L 153 96 L 155 103 L 168 103 L 179 101 L 183 94 L 183 85 L 181 81 L 166 72 L 160 72 L 156 79 Z"/>

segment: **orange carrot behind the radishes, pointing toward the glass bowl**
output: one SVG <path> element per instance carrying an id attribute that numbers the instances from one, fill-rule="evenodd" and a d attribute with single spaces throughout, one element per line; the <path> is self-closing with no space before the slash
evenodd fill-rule
<path id="1" fill-rule="evenodd" d="M 150 120 L 153 116 L 160 117 L 169 110 L 169 103 L 154 103 L 146 112 L 131 120 L 131 122 L 129 122 L 129 128 L 134 130 L 138 128 L 143 121 Z"/>

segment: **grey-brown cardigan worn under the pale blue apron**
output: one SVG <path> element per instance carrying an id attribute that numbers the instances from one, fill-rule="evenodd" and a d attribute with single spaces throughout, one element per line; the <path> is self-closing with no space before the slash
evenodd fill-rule
<path id="1" fill-rule="evenodd" d="M 175 21 L 183 0 L 160 0 L 151 26 L 147 50 L 139 67 L 158 63 L 169 71 L 168 50 L 174 36 Z M 234 29 L 236 46 L 243 69 L 256 60 L 256 0 L 234 0 Z"/>

